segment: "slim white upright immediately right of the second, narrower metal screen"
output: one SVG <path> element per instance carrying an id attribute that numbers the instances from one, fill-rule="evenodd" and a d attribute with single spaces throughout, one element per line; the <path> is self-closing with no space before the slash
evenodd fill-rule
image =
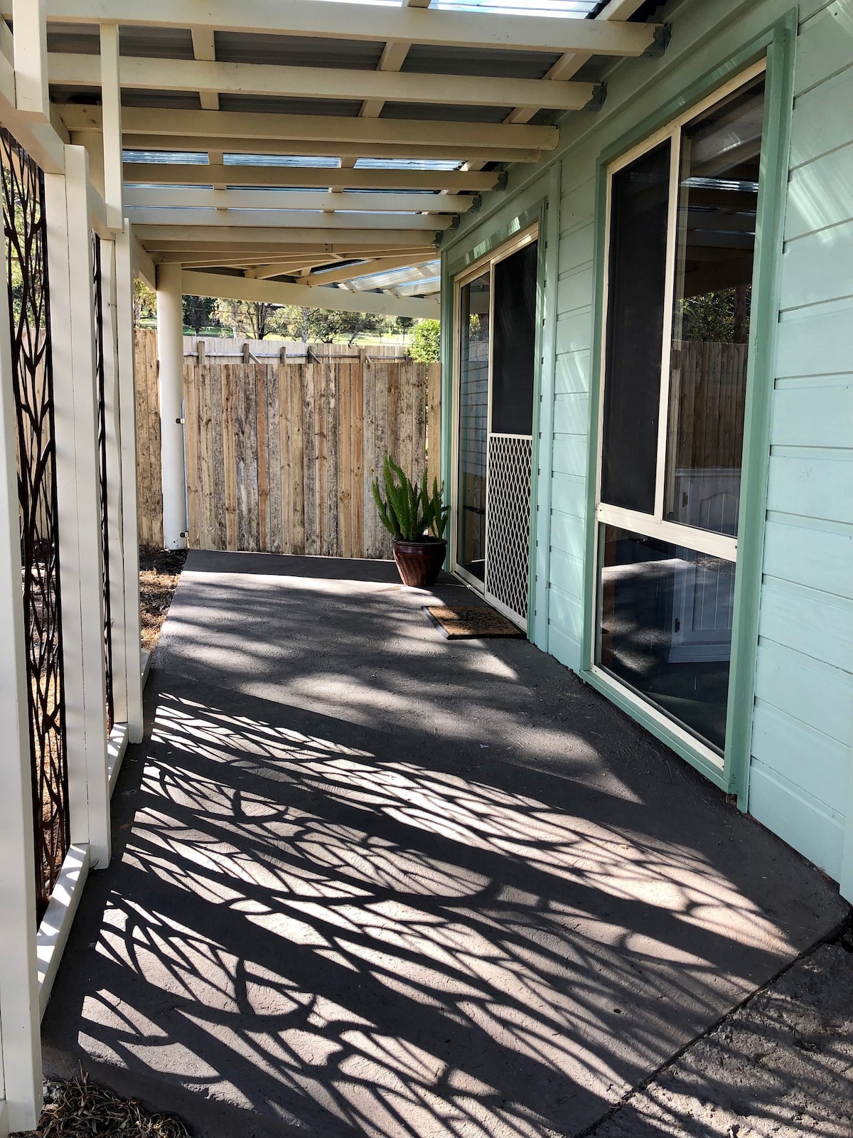
<path id="1" fill-rule="evenodd" d="M 107 451 L 107 535 L 109 546 L 109 616 L 113 645 L 113 718 L 127 721 L 127 642 L 124 621 L 124 534 L 122 513 L 122 424 L 118 391 L 118 313 L 116 311 L 115 241 L 101 241 L 103 324 L 103 418 Z"/>

